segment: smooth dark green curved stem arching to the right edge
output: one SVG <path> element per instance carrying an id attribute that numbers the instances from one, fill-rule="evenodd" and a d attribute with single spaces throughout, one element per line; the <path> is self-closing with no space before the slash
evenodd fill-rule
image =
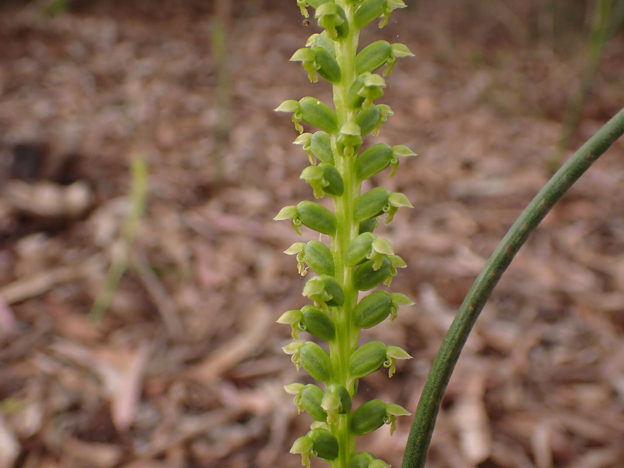
<path id="1" fill-rule="evenodd" d="M 422 390 L 407 439 L 402 468 L 422 468 L 436 417 L 459 354 L 485 302 L 515 254 L 568 188 L 624 134 L 624 109 L 620 110 L 553 175 L 500 241 L 477 276 L 457 316 L 444 337 Z"/>

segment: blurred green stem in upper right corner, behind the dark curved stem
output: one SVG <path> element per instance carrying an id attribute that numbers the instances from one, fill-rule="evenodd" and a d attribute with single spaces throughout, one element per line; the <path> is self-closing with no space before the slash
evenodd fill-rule
<path id="1" fill-rule="evenodd" d="M 570 147 L 570 141 L 577 128 L 583 105 L 585 105 L 598 67 L 600 67 L 605 44 L 622 26 L 622 21 L 624 21 L 624 0 L 618 0 L 615 5 L 612 0 L 597 0 L 588 37 L 585 70 L 580 78 L 578 89 L 570 98 L 563 115 L 555 155 L 548 161 L 548 166 L 553 171 L 561 165 L 563 156 Z"/>

